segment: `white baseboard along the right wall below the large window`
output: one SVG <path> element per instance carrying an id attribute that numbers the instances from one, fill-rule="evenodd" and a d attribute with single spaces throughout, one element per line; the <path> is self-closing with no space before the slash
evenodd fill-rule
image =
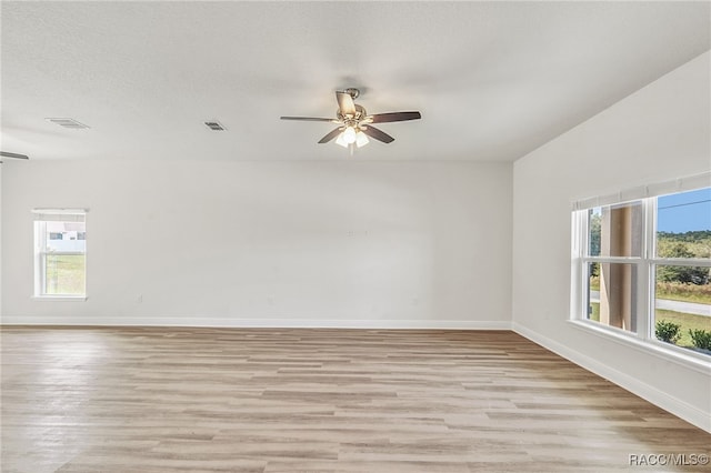
<path id="1" fill-rule="evenodd" d="M 570 360 L 579 366 L 582 366 L 585 370 L 595 373 L 597 375 L 604 378 L 608 381 L 613 382 L 614 384 L 630 391 L 633 394 L 639 395 L 640 397 L 651 402 L 652 404 L 663 409 L 664 411 L 668 411 L 677 415 L 678 417 L 681 417 L 684 421 L 698 426 L 699 429 L 703 429 L 704 431 L 711 433 L 711 416 L 709 415 L 709 412 L 690 405 L 684 401 L 673 397 L 647 383 L 639 381 L 634 376 L 630 376 L 627 373 L 618 371 L 607 364 L 600 363 L 599 361 L 585 354 L 572 350 L 567 345 L 555 342 L 515 322 L 513 322 L 512 329 L 515 333 L 531 340 L 534 343 L 538 343 L 539 345 L 552 351 L 553 353 L 557 353 L 564 359 Z"/>

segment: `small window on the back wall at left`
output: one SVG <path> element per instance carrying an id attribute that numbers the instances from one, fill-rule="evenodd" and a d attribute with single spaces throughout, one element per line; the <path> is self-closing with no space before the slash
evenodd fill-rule
<path id="1" fill-rule="evenodd" d="M 86 298 L 86 211 L 37 209 L 33 213 L 34 295 Z"/>

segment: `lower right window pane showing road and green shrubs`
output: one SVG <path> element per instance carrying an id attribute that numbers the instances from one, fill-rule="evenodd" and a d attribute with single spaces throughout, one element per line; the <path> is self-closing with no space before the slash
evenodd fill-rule
<path id="1" fill-rule="evenodd" d="M 657 339 L 682 348 L 699 350 L 694 345 L 711 340 L 711 282 L 709 268 L 657 266 L 654 290 L 654 335 Z M 683 282 L 695 281 L 695 282 Z M 708 335 L 704 335 L 705 331 Z M 708 345 L 704 345 L 709 348 Z M 708 352 L 711 354 L 711 351 Z"/>

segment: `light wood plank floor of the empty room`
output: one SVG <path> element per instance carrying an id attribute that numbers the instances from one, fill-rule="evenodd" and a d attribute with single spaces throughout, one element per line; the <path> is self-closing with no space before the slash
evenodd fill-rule
<path id="1" fill-rule="evenodd" d="M 599 473 L 711 454 L 708 433 L 512 332 L 0 336 L 4 473 Z"/>

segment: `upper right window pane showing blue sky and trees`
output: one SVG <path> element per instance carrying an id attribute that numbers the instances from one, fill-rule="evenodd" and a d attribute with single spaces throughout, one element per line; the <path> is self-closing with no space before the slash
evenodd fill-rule
<path id="1" fill-rule="evenodd" d="M 711 258 L 711 188 L 657 199 L 657 255 Z"/>

